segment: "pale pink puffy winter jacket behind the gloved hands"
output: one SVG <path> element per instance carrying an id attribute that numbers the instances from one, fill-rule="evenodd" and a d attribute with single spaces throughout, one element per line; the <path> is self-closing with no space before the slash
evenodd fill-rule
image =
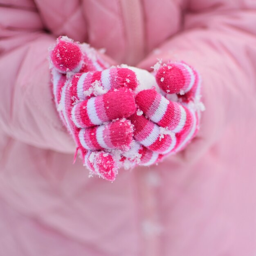
<path id="1" fill-rule="evenodd" d="M 256 2 L 0 0 L 0 255 L 255 256 Z M 158 166 L 88 178 L 55 110 L 56 37 L 150 70 L 183 60 L 206 111 Z"/>

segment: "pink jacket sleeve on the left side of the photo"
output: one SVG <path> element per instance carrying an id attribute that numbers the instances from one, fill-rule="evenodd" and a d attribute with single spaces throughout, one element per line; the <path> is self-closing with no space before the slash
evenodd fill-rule
<path id="1" fill-rule="evenodd" d="M 74 152 L 49 86 L 47 34 L 33 1 L 0 3 L 0 129 L 41 148 Z"/>

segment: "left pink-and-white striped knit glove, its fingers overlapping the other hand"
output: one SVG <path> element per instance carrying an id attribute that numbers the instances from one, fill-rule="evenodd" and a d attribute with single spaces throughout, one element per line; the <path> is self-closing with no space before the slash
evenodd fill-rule
<path id="1" fill-rule="evenodd" d="M 106 150 L 130 148 L 132 125 L 125 118 L 136 110 L 134 72 L 106 69 L 109 65 L 94 49 L 66 37 L 58 38 L 50 58 L 56 107 L 84 164 L 92 173 L 114 180 L 119 166 Z"/>

